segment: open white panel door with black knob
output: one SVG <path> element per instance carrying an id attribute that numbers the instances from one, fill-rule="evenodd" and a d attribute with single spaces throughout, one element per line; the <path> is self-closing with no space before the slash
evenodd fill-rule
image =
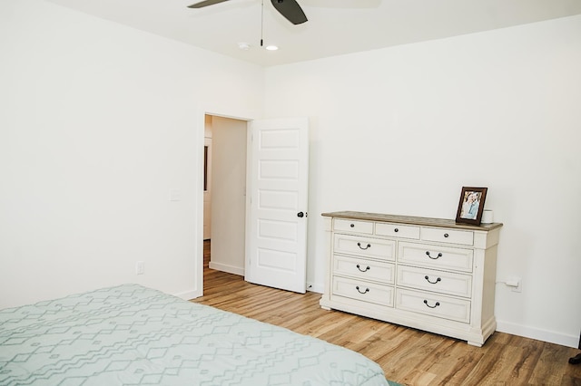
<path id="1" fill-rule="evenodd" d="M 251 121 L 245 280 L 304 294 L 307 118 Z"/>

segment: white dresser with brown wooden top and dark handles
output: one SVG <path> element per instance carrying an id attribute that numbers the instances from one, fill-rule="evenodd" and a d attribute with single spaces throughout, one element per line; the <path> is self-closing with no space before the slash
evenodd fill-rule
<path id="1" fill-rule="evenodd" d="M 324 309 L 336 309 L 481 346 L 494 333 L 498 234 L 454 220 L 323 213 Z"/>

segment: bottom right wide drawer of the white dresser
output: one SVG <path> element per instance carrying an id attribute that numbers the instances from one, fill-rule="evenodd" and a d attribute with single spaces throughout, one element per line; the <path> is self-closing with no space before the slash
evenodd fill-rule
<path id="1" fill-rule="evenodd" d="M 398 288 L 396 308 L 442 319 L 470 323 L 470 301 L 443 294 Z"/>

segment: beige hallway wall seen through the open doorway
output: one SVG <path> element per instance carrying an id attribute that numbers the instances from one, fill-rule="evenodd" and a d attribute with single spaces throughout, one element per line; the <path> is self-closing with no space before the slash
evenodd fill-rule
<path id="1" fill-rule="evenodd" d="M 212 117 L 212 254 L 210 267 L 244 275 L 246 121 Z"/>

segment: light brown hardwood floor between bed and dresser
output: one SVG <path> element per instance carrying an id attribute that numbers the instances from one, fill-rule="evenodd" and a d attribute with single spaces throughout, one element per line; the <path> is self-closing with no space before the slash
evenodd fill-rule
<path id="1" fill-rule="evenodd" d="M 567 362 L 579 352 L 576 349 L 507 333 L 494 333 L 478 348 L 396 324 L 325 311 L 319 306 L 320 294 L 251 285 L 239 275 L 209 269 L 209 242 L 206 244 L 204 295 L 192 302 L 360 352 L 378 362 L 390 381 L 406 385 L 581 385 L 581 364 Z"/>

